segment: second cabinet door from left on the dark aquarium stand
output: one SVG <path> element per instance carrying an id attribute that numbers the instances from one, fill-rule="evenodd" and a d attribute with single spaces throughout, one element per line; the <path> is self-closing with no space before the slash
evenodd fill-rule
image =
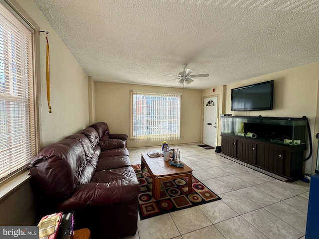
<path id="1" fill-rule="evenodd" d="M 256 148 L 256 143 L 237 140 L 237 158 L 244 162 L 255 165 L 257 151 Z"/>

